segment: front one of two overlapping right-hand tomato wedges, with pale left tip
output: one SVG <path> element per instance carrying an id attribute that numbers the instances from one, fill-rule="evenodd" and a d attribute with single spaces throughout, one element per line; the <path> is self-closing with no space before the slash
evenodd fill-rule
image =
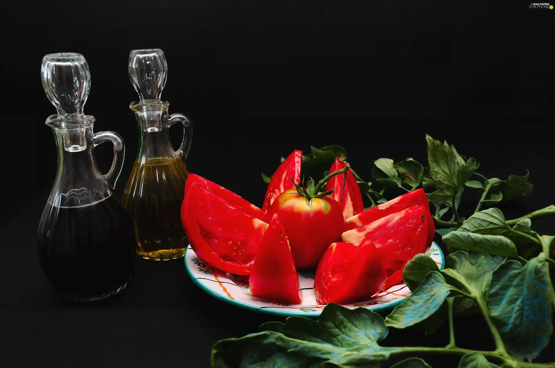
<path id="1" fill-rule="evenodd" d="M 341 234 L 344 242 L 364 245 L 373 243 L 384 262 L 387 275 L 390 276 L 408 258 L 417 253 L 424 253 L 427 246 L 428 219 L 430 212 L 422 205 L 414 205 L 402 211 L 388 214 L 374 222 L 359 226 Z"/>

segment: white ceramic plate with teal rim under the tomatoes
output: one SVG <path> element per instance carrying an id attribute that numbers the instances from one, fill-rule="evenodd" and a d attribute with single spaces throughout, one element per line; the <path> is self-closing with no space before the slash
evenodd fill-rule
<path id="1" fill-rule="evenodd" d="M 443 269 L 445 258 L 440 247 L 433 242 L 428 248 L 428 255 L 437 263 L 438 269 Z M 219 269 L 210 268 L 196 258 L 195 252 L 189 246 L 185 251 L 185 268 L 190 278 L 206 293 L 241 308 L 252 309 L 261 313 L 279 315 L 319 316 L 325 305 L 318 304 L 314 294 L 314 273 L 299 272 L 299 283 L 302 293 L 302 304 L 279 304 L 261 300 L 251 296 L 248 276 L 232 275 Z M 400 304 L 411 295 L 411 291 L 404 283 L 397 284 L 387 292 L 374 295 L 370 300 L 355 304 L 344 304 L 354 309 L 360 306 L 377 311 L 390 309 Z"/>

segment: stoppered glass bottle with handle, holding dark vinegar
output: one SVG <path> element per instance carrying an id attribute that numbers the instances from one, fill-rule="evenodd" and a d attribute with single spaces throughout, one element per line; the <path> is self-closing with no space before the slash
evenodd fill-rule
<path id="1" fill-rule="evenodd" d="M 104 299 L 125 288 L 135 265 L 135 239 L 127 211 L 113 195 L 124 143 L 111 131 L 94 133 L 83 114 L 90 72 L 83 55 L 58 53 L 42 60 L 44 91 L 58 114 L 48 117 L 58 147 L 58 171 L 38 228 L 43 272 L 62 297 Z M 114 145 L 112 168 L 102 175 L 93 149 Z"/>

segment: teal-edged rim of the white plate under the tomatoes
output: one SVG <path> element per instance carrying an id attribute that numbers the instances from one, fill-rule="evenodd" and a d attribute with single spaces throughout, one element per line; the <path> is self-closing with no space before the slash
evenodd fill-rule
<path id="1" fill-rule="evenodd" d="M 438 269 L 440 269 L 440 270 L 445 269 L 445 255 L 443 254 L 443 251 L 441 250 L 440 246 L 438 246 L 438 244 L 435 241 L 432 241 L 432 244 L 430 244 L 430 247 L 426 248 L 426 251 L 434 245 L 438 249 L 438 251 L 440 253 L 440 256 L 441 256 L 441 265 Z M 223 300 L 223 301 L 225 301 L 225 303 L 228 303 L 228 304 L 231 304 L 231 305 L 234 305 L 234 306 L 238 306 L 239 308 L 243 308 L 243 309 L 254 310 L 258 313 L 281 315 L 281 316 L 284 316 L 284 315 L 285 316 L 296 316 L 296 315 L 298 315 L 298 314 L 287 313 L 287 311 L 280 310 L 280 309 L 260 308 L 260 306 L 248 304 L 248 303 L 245 303 L 244 301 L 240 301 L 240 300 L 236 300 L 236 299 L 232 300 L 232 299 L 224 297 L 224 295 L 222 295 L 222 294 L 214 293 L 208 287 L 205 287 L 205 285 L 203 283 L 199 282 L 199 280 L 195 277 L 195 275 L 193 275 L 193 270 L 187 266 L 187 255 L 188 255 L 188 253 L 190 253 L 189 251 L 193 251 L 193 248 L 191 248 L 191 244 L 188 244 L 187 248 L 185 249 L 185 253 L 184 253 L 184 257 L 183 257 L 183 265 L 185 266 L 185 269 L 187 271 L 187 274 L 189 275 L 189 278 L 191 280 L 193 280 L 195 285 L 197 285 L 201 290 L 203 290 L 203 292 L 205 292 L 209 295 L 212 295 L 216 299 Z M 240 287 L 239 285 L 236 285 L 236 286 Z M 406 285 L 405 285 L 405 287 L 406 287 Z M 364 307 L 364 306 L 360 306 L 360 307 L 357 307 L 357 308 L 365 308 L 365 309 L 369 309 L 369 310 L 372 310 L 372 311 L 393 309 L 397 305 L 399 305 L 403 301 L 405 301 L 406 299 L 407 298 L 402 298 L 402 299 L 399 299 L 399 300 L 392 301 L 391 303 L 387 303 L 387 304 L 383 304 L 383 305 L 379 304 L 379 305 L 374 306 L 374 308 L 369 308 L 369 307 Z M 319 308 L 319 310 L 317 310 L 317 311 L 305 312 L 301 316 L 306 316 L 306 317 L 320 316 L 320 314 L 322 313 L 321 311 L 324 309 L 324 307 L 318 307 L 318 308 Z"/>

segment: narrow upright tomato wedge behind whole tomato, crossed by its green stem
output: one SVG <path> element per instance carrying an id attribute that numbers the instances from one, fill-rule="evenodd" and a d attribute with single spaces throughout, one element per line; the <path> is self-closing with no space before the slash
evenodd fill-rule
<path id="1" fill-rule="evenodd" d="M 335 162 L 330 167 L 330 172 L 341 170 L 345 167 L 345 162 L 335 159 Z M 356 182 L 355 176 L 349 170 L 347 172 L 347 183 L 345 184 L 345 192 L 343 194 L 343 201 L 341 201 L 341 192 L 343 190 L 344 175 L 336 175 L 326 183 L 326 191 L 333 190 L 331 196 L 335 198 L 343 211 L 345 219 L 354 216 L 357 213 L 364 211 L 364 204 L 362 203 L 362 193 L 360 192 L 359 185 Z"/>

